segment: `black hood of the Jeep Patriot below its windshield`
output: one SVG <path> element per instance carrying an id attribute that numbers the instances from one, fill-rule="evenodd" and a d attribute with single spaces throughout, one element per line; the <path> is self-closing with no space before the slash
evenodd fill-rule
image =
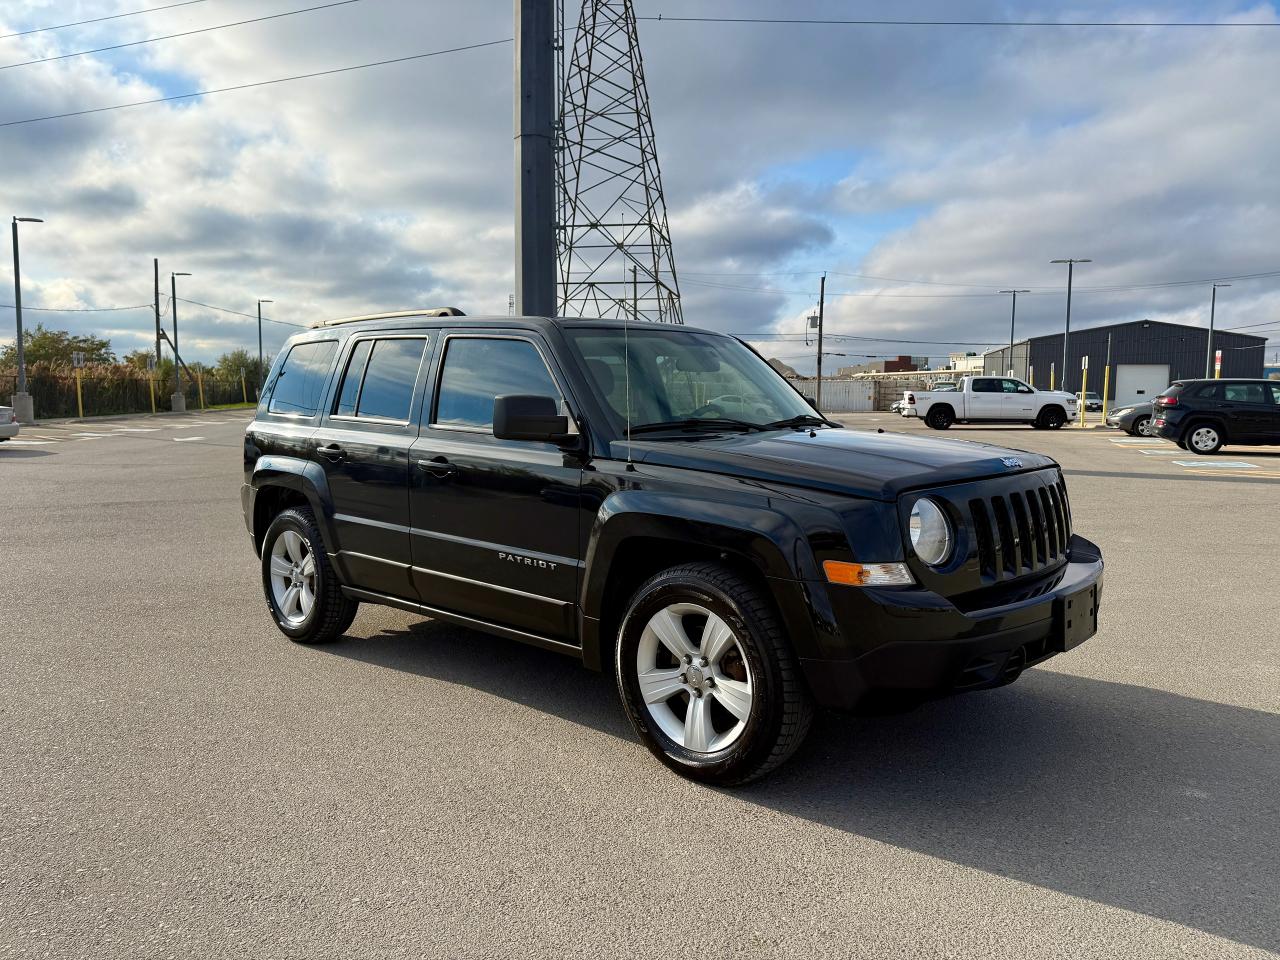
<path id="1" fill-rule="evenodd" d="M 614 457 L 625 457 L 625 443 L 613 445 Z M 1057 466 L 1039 453 L 989 443 L 849 429 L 819 429 L 812 436 L 808 430 L 773 430 L 698 439 L 644 439 L 631 444 L 631 457 L 641 463 L 705 470 L 879 500 L 893 500 L 920 486 Z"/>

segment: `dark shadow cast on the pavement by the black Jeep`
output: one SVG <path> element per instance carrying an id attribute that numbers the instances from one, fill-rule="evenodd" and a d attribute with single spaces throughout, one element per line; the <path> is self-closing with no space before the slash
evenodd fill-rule
<path id="1" fill-rule="evenodd" d="M 324 649 L 634 740 L 612 680 L 558 654 L 434 621 Z M 1277 713 L 1032 669 L 905 714 L 823 714 L 788 764 L 731 792 L 1280 950 L 1277 785 Z"/>

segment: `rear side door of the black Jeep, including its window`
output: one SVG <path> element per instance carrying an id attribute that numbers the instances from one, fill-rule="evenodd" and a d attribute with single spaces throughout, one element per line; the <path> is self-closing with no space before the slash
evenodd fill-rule
<path id="1" fill-rule="evenodd" d="M 406 600 L 410 576 L 408 457 L 426 379 L 428 338 L 369 335 L 344 349 L 342 379 L 312 436 L 333 503 L 330 544 L 344 581 Z"/>

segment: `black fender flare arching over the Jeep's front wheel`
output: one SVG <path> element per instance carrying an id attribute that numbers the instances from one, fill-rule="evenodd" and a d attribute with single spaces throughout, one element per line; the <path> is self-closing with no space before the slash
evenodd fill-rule
<path id="1" fill-rule="evenodd" d="M 822 646 L 818 631 L 836 630 L 826 591 L 813 589 L 823 576 L 809 541 L 781 511 L 758 503 L 622 490 L 600 504 L 580 585 L 582 662 L 593 669 L 604 668 L 612 657 L 614 637 L 602 635 L 602 621 L 612 614 L 621 622 L 618 611 L 604 609 L 613 559 L 636 538 L 667 540 L 673 547 L 698 544 L 750 566 L 768 586 L 799 657 L 813 655 Z"/>

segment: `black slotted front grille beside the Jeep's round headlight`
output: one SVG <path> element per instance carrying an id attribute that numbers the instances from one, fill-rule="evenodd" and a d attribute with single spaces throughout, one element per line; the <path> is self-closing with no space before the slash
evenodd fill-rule
<path id="1" fill-rule="evenodd" d="M 975 497 L 968 507 L 984 581 L 1014 580 L 1066 561 L 1071 508 L 1062 480 L 1032 474 L 1021 489 Z"/>

